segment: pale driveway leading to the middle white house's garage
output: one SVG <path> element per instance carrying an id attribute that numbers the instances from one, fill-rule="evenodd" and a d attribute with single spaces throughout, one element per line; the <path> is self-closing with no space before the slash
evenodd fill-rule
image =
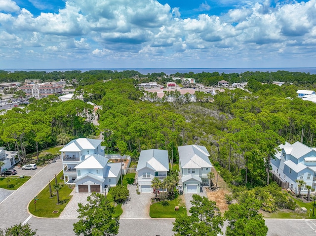
<path id="1" fill-rule="evenodd" d="M 121 219 L 140 219 L 140 218 L 150 218 L 149 208 L 150 200 L 154 195 L 152 193 L 136 193 L 137 186 L 127 185 L 129 190 L 129 200 L 122 204 L 123 214 L 121 214 Z"/>

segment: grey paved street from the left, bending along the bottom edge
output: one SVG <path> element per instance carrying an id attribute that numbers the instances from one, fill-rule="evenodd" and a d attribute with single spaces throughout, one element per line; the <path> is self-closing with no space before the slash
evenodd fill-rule
<path id="1" fill-rule="evenodd" d="M 78 219 L 37 218 L 30 216 L 27 211 L 28 203 L 47 185 L 49 180 L 53 179 L 54 174 L 57 174 L 61 169 L 61 160 L 58 160 L 56 163 L 49 164 L 36 172 L 32 172 L 35 175 L 28 182 L 0 203 L 0 228 L 5 229 L 20 222 L 28 222 L 32 224 L 33 229 L 38 229 L 39 236 L 75 236 L 73 233 L 73 223 L 77 222 Z M 131 191 L 133 190 L 131 189 Z M 130 203 L 134 204 L 133 202 Z M 130 209 L 133 210 L 134 208 Z M 174 235 L 174 232 L 172 232 L 172 222 L 174 219 L 142 218 L 145 217 L 142 213 L 136 215 L 130 214 L 129 216 L 134 219 L 127 216 L 125 215 L 125 218 L 122 217 L 119 220 L 118 236 Z M 266 219 L 266 225 L 269 228 L 268 236 L 316 236 L 316 220 Z"/>

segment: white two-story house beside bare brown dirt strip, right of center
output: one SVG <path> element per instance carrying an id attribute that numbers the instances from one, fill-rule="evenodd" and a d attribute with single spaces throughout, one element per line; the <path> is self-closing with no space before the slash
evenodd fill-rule
<path id="1" fill-rule="evenodd" d="M 213 167 L 204 146 L 187 145 L 178 147 L 179 169 L 184 193 L 198 193 L 200 187 L 208 185 L 207 174 Z"/>

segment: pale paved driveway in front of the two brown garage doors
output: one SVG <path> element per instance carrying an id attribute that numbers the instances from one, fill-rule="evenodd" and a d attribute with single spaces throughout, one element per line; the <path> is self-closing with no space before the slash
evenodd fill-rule
<path id="1" fill-rule="evenodd" d="M 78 218 L 78 203 L 81 202 L 82 204 L 86 204 L 87 197 L 90 193 L 76 193 L 76 189 L 74 189 L 70 195 L 73 197 L 70 202 L 68 202 L 63 212 L 59 215 L 59 218 Z"/>

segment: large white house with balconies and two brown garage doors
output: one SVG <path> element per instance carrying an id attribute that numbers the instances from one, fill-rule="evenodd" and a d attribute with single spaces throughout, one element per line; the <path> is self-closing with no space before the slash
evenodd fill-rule
<path id="1" fill-rule="evenodd" d="M 116 186 L 120 163 L 108 163 L 101 140 L 78 138 L 61 150 L 65 184 L 76 184 L 77 193 L 105 192 Z"/>

